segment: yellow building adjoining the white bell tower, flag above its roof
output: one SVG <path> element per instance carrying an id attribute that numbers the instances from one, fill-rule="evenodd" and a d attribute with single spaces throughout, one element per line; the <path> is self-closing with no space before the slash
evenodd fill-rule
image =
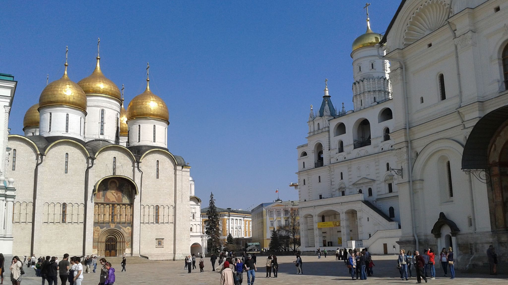
<path id="1" fill-rule="evenodd" d="M 261 248 L 269 248 L 272 231 L 292 223 L 299 228 L 298 201 L 277 199 L 272 203 L 260 204 L 252 209 L 252 242 L 259 242 Z"/>

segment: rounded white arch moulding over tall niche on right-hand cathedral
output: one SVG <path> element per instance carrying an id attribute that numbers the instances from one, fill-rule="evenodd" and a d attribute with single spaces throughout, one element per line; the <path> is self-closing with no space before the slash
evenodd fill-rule
<path id="1" fill-rule="evenodd" d="M 427 146 L 425 146 L 420 154 L 418 155 L 415 163 L 413 164 L 412 176 L 414 180 L 422 179 L 423 166 L 429 160 L 429 158 L 440 150 L 448 150 L 455 154 L 462 155 L 464 151 L 464 146 L 460 144 L 460 142 L 452 139 L 438 139 L 430 142 Z"/>

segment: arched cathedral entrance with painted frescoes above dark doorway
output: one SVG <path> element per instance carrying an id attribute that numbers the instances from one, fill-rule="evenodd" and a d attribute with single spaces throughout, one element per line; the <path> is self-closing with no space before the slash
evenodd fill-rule
<path id="1" fill-rule="evenodd" d="M 136 184 L 129 177 L 113 175 L 99 180 L 94 191 L 93 254 L 131 254 L 133 201 Z"/>

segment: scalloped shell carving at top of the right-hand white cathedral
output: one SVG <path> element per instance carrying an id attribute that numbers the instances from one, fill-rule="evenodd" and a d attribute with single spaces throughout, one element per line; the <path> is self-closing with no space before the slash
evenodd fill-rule
<path id="1" fill-rule="evenodd" d="M 442 27 L 452 12 L 444 0 L 428 0 L 412 14 L 404 31 L 404 47 Z"/>

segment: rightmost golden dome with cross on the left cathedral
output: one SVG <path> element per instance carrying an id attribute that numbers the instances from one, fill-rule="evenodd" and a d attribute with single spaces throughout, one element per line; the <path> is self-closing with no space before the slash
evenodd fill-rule
<path id="1" fill-rule="evenodd" d="M 150 91 L 149 81 L 149 79 L 146 79 L 145 92 L 134 97 L 129 103 L 127 107 L 127 120 L 148 117 L 161 119 L 169 123 L 168 106 L 161 97 Z"/>

